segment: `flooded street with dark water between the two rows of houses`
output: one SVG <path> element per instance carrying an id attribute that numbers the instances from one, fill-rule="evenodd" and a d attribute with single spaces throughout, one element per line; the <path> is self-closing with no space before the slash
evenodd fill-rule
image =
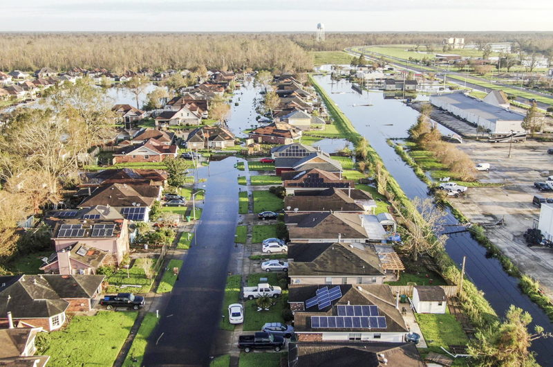
<path id="1" fill-rule="evenodd" d="M 238 220 L 234 163 L 232 158 L 210 163 L 196 239 L 183 257 L 173 292 L 160 307 L 159 327 L 151 334 L 144 366 L 209 366 Z"/>

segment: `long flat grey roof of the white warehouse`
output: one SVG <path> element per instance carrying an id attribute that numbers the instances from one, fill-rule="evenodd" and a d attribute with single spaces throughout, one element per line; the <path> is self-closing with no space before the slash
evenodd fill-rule
<path id="1" fill-rule="evenodd" d="M 486 102 L 476 100 L 469 96 L 465 96 L 463 93 L 451 93 L 444 94 L 443 96 L 431 96 L 431 102 L 433 100 L 440 100 L 441 102 L 448 103 L 454 107 L 467 111 L 481 118 L 496 123 L 500 120 L 507 121 L 522 121 L 524 116 L 517 114 L 512 110 L 503 109 L 502 107 L 489 105 Z"/>

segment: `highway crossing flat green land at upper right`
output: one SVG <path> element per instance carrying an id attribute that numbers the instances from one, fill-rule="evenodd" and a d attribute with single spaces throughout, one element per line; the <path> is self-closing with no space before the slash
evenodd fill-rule
<path id="1" fill-rule="evenodd" d="M 353 55 L 361 55 L 360 53 L 358 53 L 357 51 L 353 51 L 352 48 L 346 48 L 346 52 L 348 53 L 351 53 Z M 389 60 L 397 60 L 398 62 L 406 62 L 406 63 L 409 63 L 409 60 L 402 60 L 398 57 L 393 57 L 393 56 L 388 56 L 388 55 L 384 55 L 382 53 L 375 53 L 375 52 L 371 52 L 373 55 L 378 55 L 378 56 L 384 56 L 386 57 L 387 59 Z M 367 56 L 365 54 L 365 56 Z M 429 73 L 429 70 L 426 70 L 426 69 L 422 69 L 420 68 L 419 66 L 416 66 L 416 64 L 408 64 L 408 65 L 404 65 L 404 64 L 395 64 L 394 66 L 397 66 L 397 67 L 400 67 L 401 69 L 407 69 L 409 71 L 416 71 L 418 73 Z M 466 74 L 465 73 L 460 73 L 460 72 L 456 72 L 456 71 L 447 71 L 447 70 L 444 70 L 444 69 L 440 69 L 438 67 L 435 68 L 435 71 L 436 73 L 436 76 L 435 78 L 436 79 L 440 79 L 440 80 L 444 80 L 444 75 L 443 74 L 451 74 L 451 75 L 456 75 L 460 78 L 465 78 Z M 487 80 L 487 79 L 483 79 L 483 78 L 478 78 L 478 77 L 475 77 L 474 75 L 470 75 L 470 78 L 474 78 L 480 82 L 486 82 L 486 83 L 489 83 L 490 81 Z M 470 79 L 468 79 L 470 80 Z M 474 84 L 474 83 L 471 83 L 467 80 L 467 83 L 466 83 L 466 86 L 469 87 L 469 88 L 472 88 L 476 91 L 490 91 L 490 88 L 485 88 L 485 87 L 481 87 L 480 85 L 478 84 Z M 465 86 L 465 81 L 464 80 L 457 80 L 457 79 L 452 79 L 452 78 L 449 78 L 447 81 L 449 82 L 453 82 L 453 83 L 456 83 L 456 84 L 459 84 L 459 85 L 462 85 L 462 86 Z M 507 84 L 502 84 L 502 83 L 498 83 L 498 82 L 495 82 L 494 85 L 497 87 L 496 89 L 501 89 L 501 87 L 505 87 L 505 88 L 511 88 L 511 89 L 518 89 L 519 91 L 523 91 L 525 93 L 531 93 L 531 94 L 534 94 L 534 96 L 539 96 L 539 97 L 543 97 L 543 98 L 549 98 L 551 100 L 551 104 L 548 105 L 547 103 L 543 103 L 543 102 L 536 102 L 538 107 L 540 107 L 541 109 L 547 109 L 549 107 L 551 107 L 553 105 L 553 97 L 552 96 L 549 96 L 545 93 L 541 93 L 541 92 L 538 92 L 538 91 L 532 91 L 531 89 L 525 89 L 525 88 L 521 88 L 521 87 L 516 87 L 516 86 L 513 86 L 513 85 L 507 85 Z M 516 100 L 518 102 L 523 102 L 527 105 L 531 105 L 532 102 L 530 102 L 527 98 L 523 98 L 523 97 L 517 97 Z"/>

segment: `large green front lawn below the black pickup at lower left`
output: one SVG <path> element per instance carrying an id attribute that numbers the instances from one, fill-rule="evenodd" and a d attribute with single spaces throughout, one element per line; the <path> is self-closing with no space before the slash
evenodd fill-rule
<path id="1" fill-rule="evenodd" d="M 50 334 L 48 366 L 111 367 L 129 336 L 138 312 L 100 311 L 96 316 L 74 316 L 63 331 Z"/>

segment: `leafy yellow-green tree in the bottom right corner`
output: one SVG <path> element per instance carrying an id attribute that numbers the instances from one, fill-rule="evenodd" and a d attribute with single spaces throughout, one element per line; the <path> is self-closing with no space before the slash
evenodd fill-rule
<path id="1" fill-rule="evenodd" d="M 475 334 L 469 341 L 467 351 L 471 364 L 478 367 L 537 367 L 534 352 L 528 349 L 532 341 L 551 337 L 541 326 L 534 327 L 534 333 L 528 332 L 532 316 L 521 308 L 511 305 L 505 319 L 495 322 Z"/>

